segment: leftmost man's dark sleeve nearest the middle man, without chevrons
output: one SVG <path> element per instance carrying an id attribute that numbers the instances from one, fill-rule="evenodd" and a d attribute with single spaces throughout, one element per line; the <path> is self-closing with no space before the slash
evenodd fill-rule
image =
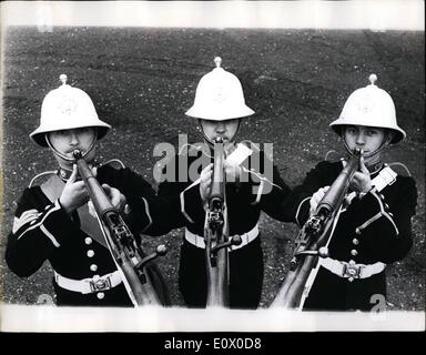
<path id="1" fill-rule="evenodd" d="M 99 180 L 120 190 L 130 211 L 123 217 L 129 226 L 143 234 L 162 235 L 174 226 L 170 202 L 156 196 L 154 189 L 141 175 L 125 168 L 105 166 L 99 170 Z"/>

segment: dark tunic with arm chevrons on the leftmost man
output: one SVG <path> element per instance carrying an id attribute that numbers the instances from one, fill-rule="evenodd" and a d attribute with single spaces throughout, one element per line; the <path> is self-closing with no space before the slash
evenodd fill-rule
<path id="1" fill-rule="evenodd" d="M 98 180 L 101 184 L 106 183 L 119 189 L 126 196 L 128 204 L 132 209 L 126 223 L 138 242 L 140 231 L 151 235 L 170 231 L 169 221 L 171 222 L 172 214 L 166 203 L 155 196 L 155 191 L 142 176 L 129 169 L 115 170 L 104 165 L 98 169 Z M 60 183 L 64 184 L 62 181 Z M 47 260 L 55 273 L 74 281 L 116 271 L 110 251 L 93 235 L 81 230 L 80 212 L 67 214 L 58 200 L 50 201 L 40 186 L 23 191 L 18 202 L 16 220 L 26 211 L 33 209 L 39 215 L 30 219 L 8 236 L 6 261 L 18 276 L 32 275 Z M 97 223 L 94 219 L 93 221 Z M 89 294 L 64 290 L 54 280 L 53 286 L 58 305 L 132 305 L 123 283 L 106 291 Z"/>

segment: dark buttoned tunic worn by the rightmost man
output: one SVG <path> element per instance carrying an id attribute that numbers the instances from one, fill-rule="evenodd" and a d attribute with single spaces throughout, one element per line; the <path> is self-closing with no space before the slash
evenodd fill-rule
<path id="1" fill-rule="evenodd" d="M 317 164 L 303 184 L 294 189 L 283 204 L 283 211 L 293 211 L 295 222 L 302 226 L 310 214 L 311 196 L 320 187 L 332 185 L 342 169 L 342 162 Z M 372 180 L 377 174 L 372 174 Z M 328 257 L 364 265 L 402 260 L 413 244 L 410 217 L 415 214 L 416 203 L 415 181 L 400 175 L 381 192 L 355 196 L 339 215 L 328 244 Z M 366 278 L 349 280 L 321 266 L 304 308 L 369 311 L 381 297 L 385 300 L 385 271 Z M 373 295 L 376 296 L 372 298 Z"/>

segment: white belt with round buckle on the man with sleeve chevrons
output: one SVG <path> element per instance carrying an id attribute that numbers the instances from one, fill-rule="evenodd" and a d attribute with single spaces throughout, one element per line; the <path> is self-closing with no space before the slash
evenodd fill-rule
<path id="1" fill-rule="evenodd" d="M 121 284 L 120 272 L 103 276 L 93 276 L 92 278 L 72 280 L 54 272 L 54 281 L 59 286 L 68 291 L 80 292 L 82 294 L 106 291 Z"/>

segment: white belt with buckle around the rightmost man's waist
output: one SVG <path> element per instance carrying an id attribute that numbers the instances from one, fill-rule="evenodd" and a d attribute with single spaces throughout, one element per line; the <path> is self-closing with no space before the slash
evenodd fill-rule
<path id="1" fill-rule="evenodd" d="M 333 274 L 354 281 L 354 278 L 367 278 L 383 272 L 386 264 L 377 262 L 371 265 L 356 264 L 354 261 L 341 262 L 331 257 L 321 258 L 321 265 Z"/>

